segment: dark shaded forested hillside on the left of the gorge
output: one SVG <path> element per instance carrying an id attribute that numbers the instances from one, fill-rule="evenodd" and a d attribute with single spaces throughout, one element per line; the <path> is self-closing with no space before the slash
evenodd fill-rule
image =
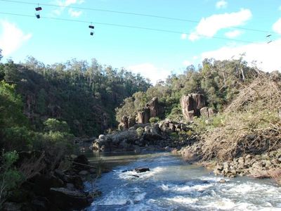
<path id="1" fill-rule="evenodd" d="M 150 87 L 148 79 L 93 59 L 44 65 L 33 57 L 25 63 L 0 65 L 0 80 L 14 84 L 24 113 L 35 130 L 49 117 L 63 120 L 75 136 L 94 136 L 115 127 L 115 108 L 124 98 Z M 12 111 L 11 111 L 12 112 Z"/>

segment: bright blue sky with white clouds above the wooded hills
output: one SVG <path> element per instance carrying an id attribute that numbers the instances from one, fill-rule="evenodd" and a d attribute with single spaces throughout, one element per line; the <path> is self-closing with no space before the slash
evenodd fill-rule
<path id="1" fill-rule="evenodd" d="M 43 8 L 40 19 L 35 18 L 36 5 L 32 3 Z M 91 22 L 95 25 L 93 37 L 88 27 Z M 96 58 L 102 65 L 140 72 L 152 82 L 171 72 L 183 72 L 187 65 L 197 66 L 204 58 L 230 59 L 241 53 L 248 63 L 256 60 L 258 68 L 281 70 L 280 35 L 280 0 L 0 1 L 4 58 L 19 62 L 34 56 L 45 64 Z"/>

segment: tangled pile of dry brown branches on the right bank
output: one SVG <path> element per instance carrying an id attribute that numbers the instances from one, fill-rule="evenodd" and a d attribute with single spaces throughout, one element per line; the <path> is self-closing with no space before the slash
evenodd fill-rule
<path id="1" fill-rule="evenodd" d="M 220 161 L 281 148 L 281 82 L 265 75 L 240 90 L 221 127 L 203 134 L 202 158 Z"/>

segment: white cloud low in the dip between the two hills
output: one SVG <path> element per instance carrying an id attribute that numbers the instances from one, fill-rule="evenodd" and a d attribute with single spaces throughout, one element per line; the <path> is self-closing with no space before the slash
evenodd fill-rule
<path id="1" fill-rule="evenodd" d="M 159 80 L 165 80 L 168 75 L 170 75 L 169 70 L 164 70 L 164 68 L 157 68 L 151 63 L 143 63 L 139 65 L 132 65 L 126 69 L 134 72 L 140 73 L 143 77 L 149 78 L 152 84 L 156 84 Z"/>

